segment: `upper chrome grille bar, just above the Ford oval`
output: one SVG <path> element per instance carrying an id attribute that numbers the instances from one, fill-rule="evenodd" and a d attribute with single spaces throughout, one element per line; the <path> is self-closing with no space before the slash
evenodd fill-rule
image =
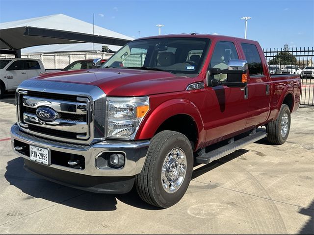
<path id="1" fill-rule="evenodd" d="M 23 96 L 23 106 L 30 107 L 30 108 L 48 106 L 57 112 L 72 113 L 72 114 L 73 113 L 86 114 L 87 112 L 86 102 L 87 102 L 87 99 L 85 99 L 85 103 L 82 103 L 82 102 L 60 101 L 60 100 L 53 100 L 53 99 L 30 97 L 27 95 Z"/>

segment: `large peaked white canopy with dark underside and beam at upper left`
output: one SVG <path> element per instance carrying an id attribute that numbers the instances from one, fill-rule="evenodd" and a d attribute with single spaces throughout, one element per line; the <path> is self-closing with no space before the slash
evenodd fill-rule
<path id="1" fill-rule="evenodd" d="M 93 33 L 94 30 L 94 33 Z M 0 51 L 69 43 L 101 43 L 123 46 L 133 38 L 58 14 L 0 23 Z"/>

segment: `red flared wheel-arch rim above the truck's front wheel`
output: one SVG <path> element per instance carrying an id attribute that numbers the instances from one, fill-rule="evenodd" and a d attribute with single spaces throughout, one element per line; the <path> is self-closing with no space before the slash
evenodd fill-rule
<path id="1" fill-rule="evenodd" d="M 172 99 L 161 103 L 149 113 L 143 120 L 135 140 L 147 140 L 153 138 L 158 127 L 165 120 L 179 114 L 190 116 L 195 121 L 199 132 L 197 135 L 199 140 L 205 139 L 206 133 L 204 131 L 204 123 L 200 111 L 195 104 L 186 99 Z"/>

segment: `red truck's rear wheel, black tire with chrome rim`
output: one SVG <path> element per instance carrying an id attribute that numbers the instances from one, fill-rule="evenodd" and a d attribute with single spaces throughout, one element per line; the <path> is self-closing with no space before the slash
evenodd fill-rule
<path id="1" fill-rule="evenodd" d="M 291 115 L 288 105 L 283 104 L 276 120 L 266 125 L 267 141 L 273 144 L 283 144 L 287 141 L 291 124 Z"/>

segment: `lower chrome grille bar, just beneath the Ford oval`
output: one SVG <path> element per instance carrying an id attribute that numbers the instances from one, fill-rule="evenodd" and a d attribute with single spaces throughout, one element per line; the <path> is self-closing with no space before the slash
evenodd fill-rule
<path id="1" fill-rule="evenodd" d="M 40 120 L 39 118 L 37 118 L 36 115 L 27 114 L 27 113 L 24 113 L 23 121 L 27 124 L 32 124 L 36 126 L 54 129 L 54 130 L 68 131 L 68 132 L 75 132 L 75 133 L 87 133 L 88 132 L 88 125 L 86 122 L 56 119 L 55 121 L 46 122 L 44 125 L 42 125 L 40 124 Z M 80 138 L 81 136 L 82 135 L 80 135 Z M 87 139 L 87 136 L 85 136 L 84 139 Z"/>

